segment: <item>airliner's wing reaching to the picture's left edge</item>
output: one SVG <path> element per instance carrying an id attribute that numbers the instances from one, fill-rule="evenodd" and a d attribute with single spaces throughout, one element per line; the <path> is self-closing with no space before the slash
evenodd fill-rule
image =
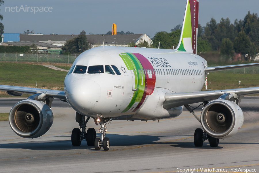
<path id="1" fill-rule="evenodd" d="M 22 94 L 45 93 L 47 97 L 66 101 L 65 92 L 58 91 L 58 90 L 0 85 L 0 91 L 7 91 L 8 94 L 14 95 L 14 96 L 21 96 Z"/>

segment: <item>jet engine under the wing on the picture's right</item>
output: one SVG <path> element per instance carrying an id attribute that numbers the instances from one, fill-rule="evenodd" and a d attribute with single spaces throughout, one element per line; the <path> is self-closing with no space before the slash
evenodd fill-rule
<path id="1" fill-rule="evenodd" d="M 207 104 L 201 112 L 201 125 L 214 138 L 229 138 L 242 127 L 244 115 L 233 101 L 217 99 Z"/>

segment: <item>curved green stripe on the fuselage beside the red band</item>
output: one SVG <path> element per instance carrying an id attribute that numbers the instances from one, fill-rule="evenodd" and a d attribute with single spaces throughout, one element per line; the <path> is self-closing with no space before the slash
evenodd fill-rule
<path id="1" fill-rule="evenodd" d="M 140 61 L 135 57 L 134 54 L 122 53 L 122 54 L 119 54 L 119 56 L 124 61 L 127 69 L 133 70 L 134 76 L 135 76 L 135 88 L 137 88 L 136 91 L 134 91 L 133 97 L 132 97 L 129 105 L 122 111 L 122 112 L 127 112 L 134 105 L 135 102 L 140 102 L 140 100 L 144 94 L 146 80 L 145 80 L 144 72 L 142 71 L 142 74 L 141 74 L 138 71 L 139 69 L 142 70 L 143 67 L 142 67 Z M 134 71 L 134 69 L 135 69 L 135 71 Z M 141 80 L 143 80 L 143 82 L 141 82 Z M 132 110 L 134 110 L 134 109 L 132 109 Z"/>

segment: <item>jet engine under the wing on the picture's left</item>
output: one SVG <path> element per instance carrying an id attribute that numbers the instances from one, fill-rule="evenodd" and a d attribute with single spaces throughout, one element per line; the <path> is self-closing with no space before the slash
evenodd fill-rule
<path id="1" fill-rule="evenodd" d="M 22 100 L 11 109 L 9 123 L 17 135 L 23 138 L 38 138 L 51 127 L 53 113 L 42 101 Z"/>

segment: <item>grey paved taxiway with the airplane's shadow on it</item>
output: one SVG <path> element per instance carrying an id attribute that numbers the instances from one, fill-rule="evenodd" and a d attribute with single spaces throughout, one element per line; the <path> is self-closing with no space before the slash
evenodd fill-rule
<path id="1" fill-rule="evenodd" d="M 11 109 L 18 101 L 0 99 L 0 111 Z M 8 121 L 0 122 L 0 172 L 157 173 L 189 168 L 241 168 L 259 172 L 259 97 L 245 97 L 240 106 L 245 116 L 241 130 L 231 138 L 220 139 L 216 148 L 210 147 L 208 141 L 202 147 L 194 146 L 193 134 L 201 124 L 184 111 L 175 119 L 159 122 L 112 121 L 106 135 L 110 150 L 95 151 L 86 141 L 79 147 L 72 146 L 71 131 L 79 128 L 75 111 L 68 104 L 54 100 L 54 123 L 39 138 L 21 138 Z M 92 119 L 87 127 L 96 131 L 100 128 Z"/>

